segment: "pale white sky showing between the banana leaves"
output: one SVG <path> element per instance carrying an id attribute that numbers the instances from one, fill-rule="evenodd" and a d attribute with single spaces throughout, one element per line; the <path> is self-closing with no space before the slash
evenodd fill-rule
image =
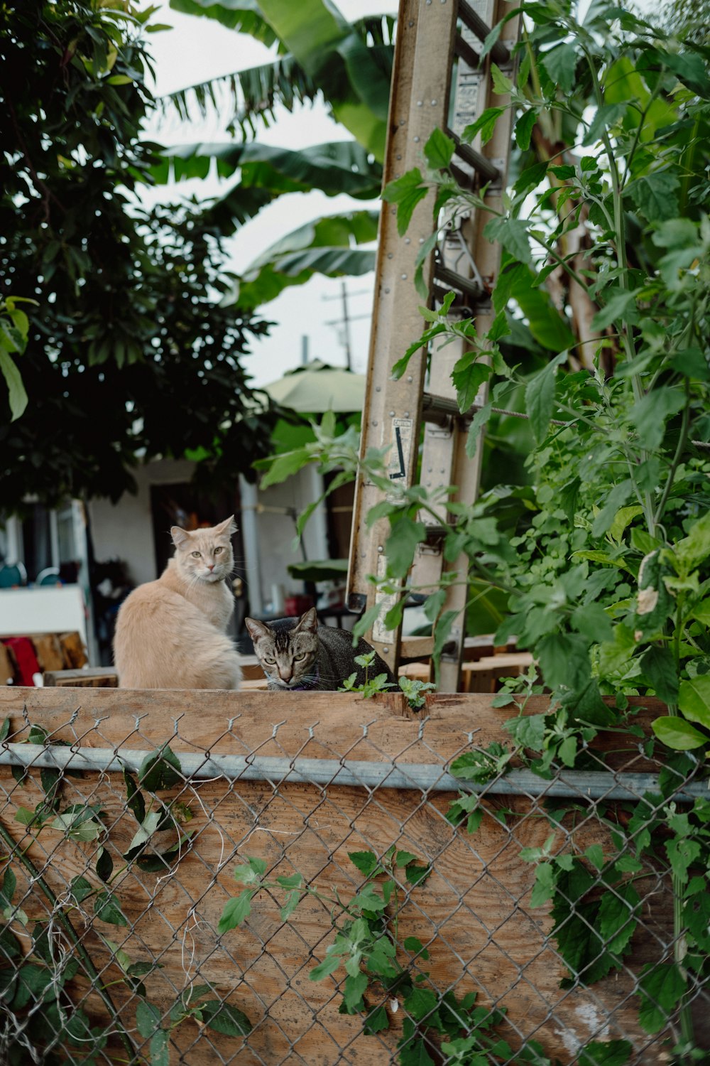
<path id="1" fill-rule="evenodd" d="M 348 19 L 359 18 L 381 11 L 396 13 L 395 2 L 376 0 L 339 0 L 337 6 Z M 214 19 L 194 17 L 174 12 L 167 3 L 156 12 L 153 22 L 172 27 L 165 32 L 150 34 L 148 44 L 155 66 L 155 95 L 184 88 L 208 81 L 219 75 L 257 66 L 268 62 L 271 52 L 260 42 L 235 33 Z M 226 141 L 226 118 L 209 116 L 183 125 L 177 114 L 169 115 L 151 128 L 161 144 L 193 143 L 198 141 Z M 268 129 L 259 132 L 264 144 L 286 148 L 304 148 L 325 141 L 348 139 L 349 134 L 326 113 L 323 103 L 307 104 L 293 114 L 285 109 Z M 233 180 L 233 179 L 232 179 Z M 216 179 L 183 181 L 167 189 L 147 190 L 146 203 L 175 200 L 177 195 L 208 197 L 220 189 Z M 229 242 L 230 268 L 243 272 L 261 252 L 284 233 L 323 214 L 335 214 L 361 208 L 378 209 L 378 201 L 353 200 L 347 195 L 326 196 L 324 193 L 292 193 L 279 197 L 248 222 Z M 346 278 L 352 369 L 364 372 L 367 364 L 369 316 L 373 305 L 374 274 Z M 342 316 L 342 281 L 340 278 L 315 276 L 304 286 L 286 289 L 277 300 L 265 304 L 261 317 L 275 323 L 269 337 L 254 340 L 252 354 L 244 366 L 253 377 L 254 385 L 266 385 L 280 377 L 285 370 L 301 362 L 303 336 L 309 338 L 310 358 L 319 358 L 334 366 L 345 366 L 345 348 L 342 328 L 328 325 L 329 320 Z M 358 318 L 358 316 L 363 316 Z"/>

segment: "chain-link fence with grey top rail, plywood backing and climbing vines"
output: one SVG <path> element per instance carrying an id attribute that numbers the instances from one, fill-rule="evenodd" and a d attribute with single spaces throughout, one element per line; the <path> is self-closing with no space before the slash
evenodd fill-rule
<path id="1" fill-rule="evenodd" d="M 1 701 L 0 1062 L 708 1046 L 707 784 L 643 736 L 544 779 L 486 696 Z"/>

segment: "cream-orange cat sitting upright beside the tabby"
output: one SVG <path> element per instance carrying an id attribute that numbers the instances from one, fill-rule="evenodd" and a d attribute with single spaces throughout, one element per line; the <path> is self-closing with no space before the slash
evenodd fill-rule
<path id="1" fill-rule="evenodd" d="M 116 619 L 121 689 L 238 689 L 242 669 L 226 635 L 234 597 L 234 517 L 211 529 L 170 530 L 176 553 L 158 581 L 138 585 Z"/>

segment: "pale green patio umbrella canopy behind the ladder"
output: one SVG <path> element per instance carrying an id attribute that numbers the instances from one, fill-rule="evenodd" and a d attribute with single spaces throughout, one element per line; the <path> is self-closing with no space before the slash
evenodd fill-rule
<path id="1" fill-rule="evenodd" d="M 330 367 L 319 359 L 288 370 L 278 382 L 264 386 L 273 400 L 302 414 L 362 410 L 365 375 L 345 367 Z"/>

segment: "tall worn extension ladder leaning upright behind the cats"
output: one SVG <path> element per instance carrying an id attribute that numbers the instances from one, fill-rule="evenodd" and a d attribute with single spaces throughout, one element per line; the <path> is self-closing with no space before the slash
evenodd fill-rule
<path id="1" fill-rule="evenodd" d="M 506 15 L 503 0 L 400 0 L 397 38 L 390 99 L 389 134 L 384 182 L 413 166 L 423 165 L 423 147 L 435 128 L 451 136 L 457 145 L 452 173 L 463 188 L 478 190 L 488 184 L 485 201 L 498 209 L 505 189 L 512 136 L 509 110 L 498 119 L 493 139 L 484 148 L 462 144 L 459 135 L 492 104 L 506 98 L 495 95 L 491 62 L 512 75 L 512 46 L 517 41 L 519 16 L 511 18 L 499 39 L 481 62 L 482 42 L 491 27 Z M 456 69 L 456 74 L 455 74 Z M 493 98 L 492 98 L 493 97 Z M 426 352 L 417 353 L 406 374 L 392 381 L 392 367 L 411 341 L 420 336 L 424 323 L 418 311 L 420 296 L 414 287 L 415 260 L 419 245 L 433 229 L 434 193 L 415 208 L 404 237 L 397 232 L 396 208 L 386 203 L 380 216 L 375 302 L 370 334 L 365 404 L 363 408 L 361 455 L 368 448 L 390 447 L 389 472 L 393 481 L 412 485 L 417 479 L 417 462 L 425 421 L 420 481 L 429 487 L 457 485 L 456 499 L 473 503 L 478 494 L 482 441 L 475 458 L 465 453 L 470 416 L 459 416 L 450 372 L 463 354 L 458 339 L 432 351 L 432 377 L 427 388 Z M 490 293 L 500 269 L 500 248 L 483 237 L 488 212 L 474 211 L 458 228 L 449 229 L 437 254 L 425 262 L 424 279 L 429 289 L 429 306 L 441 303 L 447 290 L 457 293 L 449 313 L 475 317 L 476 328 L 484 334 L 492 320 Z M 433 386 L 433 388 L 432 388 Z M 482 388 L 476 406 L 485 402 Z M 473 411 L 472 411 L 473 414 Z M 384 626 L 384 615 L 393 598 L 367 581 L 368 575 L 384 577 L 384 544 L 387 519 L 366 526 L 368 511 L 384 494 L 374 484 L 358 479 L 356 486 L 348 569 L 348 607 L 362 611 L 375 603 L 381 612 L 365 639 L 396 672 L 401 659 L 428 657 L 432 637 L 404 637 L 401 626 Z M 467 572 L 465 556 L 449 563 L 442 551 L 442 526 L 424 519 L 428 536 L 418 546 L 411 570 L 412 587 L 426 593 L 445 570 Z M 452 583 L 444 610 L 461 612 L 445 645 L 441 660 L 440 689 L 456 692 L 459 684 L 465 635 L 465 578 Z"/>

